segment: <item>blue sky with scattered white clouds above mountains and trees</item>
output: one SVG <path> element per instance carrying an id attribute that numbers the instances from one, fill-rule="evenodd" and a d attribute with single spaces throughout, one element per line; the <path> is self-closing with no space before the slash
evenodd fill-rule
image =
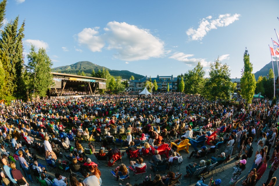
<path id="1" fill-rule="evenodd" d="M 279 1 L 8 0 L 25 19 L 25 53 L 44 47 L 53 67 L 90 61 L 155 77 L 177 76 L 219 56 L 240 77 L 247 47 L 254 72 L 271 61 Z M 208 72 L 207 72 L 208 74 Z"/>

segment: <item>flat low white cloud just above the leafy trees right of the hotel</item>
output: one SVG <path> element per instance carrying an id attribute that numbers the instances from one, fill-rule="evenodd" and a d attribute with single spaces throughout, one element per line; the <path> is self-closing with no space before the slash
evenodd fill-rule
<path id="1" fill-rule="evenodd" d="M 196 66 L 198 64 L 198 62 L 201 62 L 201 65 L 203 65 L 204 67 L 209 67 L 210 66 L 210 62 L 207 62 L 205 59 L 203 59 L 203 58 L 191 58 L 193 56 L 194 56 L 194 54 L 185 54 L 183 52 L 176 52 L 172 56 L 170 56 L 169 58 L 170 59 L 175 59 L 175 60 L 178 60 L 178 61 L 182 61 L 186 65 L 189 65 L 189 66 Z"/>

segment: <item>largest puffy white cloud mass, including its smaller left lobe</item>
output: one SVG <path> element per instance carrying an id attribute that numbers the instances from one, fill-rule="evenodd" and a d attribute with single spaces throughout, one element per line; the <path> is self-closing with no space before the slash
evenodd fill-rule
<path id="1" fill-rule="evenodd" d="M 86 45 L 92 52 L 113 50 L 115 58 L 135 61 L 159 58 L 165 54 L 164 42 L 153 36 L 148 29 L 138 28 L 125 22 L 108 22 L 99 34 L 99 27 L 84 28 L 77 34 L 79 44 Z"/>

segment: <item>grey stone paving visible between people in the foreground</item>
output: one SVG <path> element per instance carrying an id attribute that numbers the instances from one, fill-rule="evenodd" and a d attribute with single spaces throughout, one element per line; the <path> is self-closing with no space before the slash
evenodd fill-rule
<path id="1" fill-rule="evenodd" d="M 71 142 L 71 144 L 74 146 L 74 143 Z M 87 143 L 82 143 L 85 147 L 87 147 Z M 253 145 L 253 148 L 256 149 L 256 146 L 257 146 L 257 143 L 256 142 L 253 142 L 252 143 Z M 207 147 L 209 147 L 208 145 L 206 145 Z M 100 146 L 96 146 L 96 151 L 98 152 L 99 151 L 99 148 Z M 121 152 L 125 152 L 125 148 L 122 148 L 121 149 Z M 192 148 L 191 146 L 189 147 L 189 152 L 191 153 L 192 151 L 194 150 L 194 148 Z M 31 149 L 31 151 L 33 152 L 33 149 Z M 107 151 L 106 151 L 107 152 Z M 65 154 L 69 154 L 69 153 L 65 153 Z M 181 167 L 180 167 L 180 173 L 183 174 L 183 176 L 185 175 L 186 173 L 186 166 L 187 164 L 189 163 L 198 163 L 199 160 L 198 159 L 195 159 L 194 157 L 191 158 L 191 160 L 189 160 L 187 158 L 187 156 L 189 154 L 187 154 L 184 150 L 180 151 L 180 154 L 182 155 L 183 157 L 183 162 L 181 164 Z M 218 153 L 220 154 L 220 152 Z M 217 154 L 217 155 L 218 155 Z M 246 169 L 242 172 L 241 174 L 241 178 L 240 180 L 244 180 L 244 178 L 246 177 L 246 175 L 248 174 L 248 171 L 250 170 L 252 164 L 253 164 L 253 158 L 255 156 L 255 150 L 254 150 L 254 154 L 251 158 L 248 158 L 248 161 L 247 161 L 247 164 L 246 164 Z M 92 155 L 88 155 L 88 157 L 97 163 L 97 159 L 95 158 L 95 156 L 92 154 Z M 207 158 L 210 159 L 210 155 L 207 155 Z M 41 156 L 38 156 L 38 158 L 40 159 L 38 162 L 39 163 L 42 163 L 42 164 L 46 164 L 45 163 L 45 160 L 44 160 L 44 157 L 41 157 Z M 162 158 L 165 158 L 165 155 L 162 155 Z M 235 162 L 237 162 L 237 160 L 234 160 L 233 158 L 235 158 L 235 156 L 233 156 L 231 158 L 230 161 L 228 161 L 226 164 L 224 164 L 224 169 L 225 171 L 222 171 L 220 170 L 220 168 L 217 169 L 217 176 L 215 174 L 215 170 L 214 170 L 214 174 L 213 174 L 213 179 L 218 179 L 220 178 L 222 180 L 222 184 L 221 185 L 229 185 L 229 181 L 230 181 L 230 178 L 232 177 L 232 172 L 233 172 L 233 167 L 235 165 Z M 62 158 L 63 159 L 63 158 Z M 125 153 L 125 156 L 122 157 L 122 161 L 123 163 L 126 165 L 126 166 L 129 166 L 129 158 L 127 157 L 126 153 Z M 153 179 L 154 178 L 154 173 L 153 171 L 149 168 L 150 167 L 150 164 L 148 164 L 148 160 L 144 160 L 144 162 L 147 163 L 147 173 L 146 173 L 146 176 L 148 176 L 149 174 L 151 174 L 151 178 Z M 271 163 L 268 162 L 268 166 L 270 165 Z M 19 162 L 17 161 L 17 167 L 19 167 Z M 117 167 L 117 165 L 115 165 L 114 167 L 108 167 L 107 165 L 104 165 L 104 164 L 99 164 L 99 169 L 101 171 L 101 178 L 102 178 L 102 185 L 104 186 L 107 186 L 107 185 L 110 185 L 110 186 L 117 186 L 119 185 L 119 181 L 116 181 L 116 178 L 114 176 L 112 176 L 112 174 L 110 173 L 110 171 L 112 169 L 115 169 Z M 267 167 L 267 170 L 265 171 L 264 175 L 262 176 L 262 178 L 260 179 L 260 181 L 256 184 L 256 186 L 260 186 L 262 185 L 263 182 L 265 182 L 267 180 L 267 177 L 268 177 L 268 173 L 269 173 L 269 170 L 270 168 Z M 168 170 L 167 170 L 168 171 Z M 167 171 L 165 174 L 167 174 Z M 49 172 L 49 174 L 51 176 L 53 176 L 54 178 L 54 175 L 53 173 Z M 162 173 L 156 173 L 156 174 L 161 174 L 161 175 L 164 175 L 163 172 Z M 63 174 L 63 176 L 66 176 L 65 173 Z M 68 176 L 69 176 L 69 173 L 68 173 Z M 278 177 L 278 171 L 276 171 L 274 173 L 273 176 L 276 176 Z M 205 183 L 208 184 L 209 182 L 209 179 L 211 177 L 211 174 L 210 175 L 205 175 Z M 34 178 L 33 178 L 34 179 Z M 77 179 L 82 179 L 83 180 L 83 177 L 80 177 L 78 176 Z M 198 178 L 192 178 L 191 179 L 191 184 L 190 184 L 190 178 L 184 178 L 182 177 L 182 180 L 181 180 L 181 185 L 195 185 L 196 182 L 197 182 Z M 140 178 L 139 180 L 135 181 L 135 176 L 133 175 L 133 173 L 130 171 L 130 183 L 131 184 L 134 184 L 134 183 L 142 183 L 143 181 L 143 178 Z M 126 183 L 126 182 L 125 182 Z M 242 182 L 239 181 L 236 185 L 241 185 Z M 30 184 L 30 185 L 39 185 L 39 183 L 35 182 L 33 184 Z"/>

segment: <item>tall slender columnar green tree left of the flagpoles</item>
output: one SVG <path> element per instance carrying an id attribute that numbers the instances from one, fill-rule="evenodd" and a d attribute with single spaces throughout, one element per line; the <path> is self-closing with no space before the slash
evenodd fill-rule
<path id="1" fill-rule="evenodd" d="M 252 73 L 253 64 L 250 62 L 250 55 L 248 53 L 247 48 L 245 49 L 243 55 L 243 61 L 244 72 L 242 78 L 240 79 L 240 95 L 244 99 L 246 99 L 246 103 L 251 103 L 256 89 L 256 79 L 255 75 Z"/>

